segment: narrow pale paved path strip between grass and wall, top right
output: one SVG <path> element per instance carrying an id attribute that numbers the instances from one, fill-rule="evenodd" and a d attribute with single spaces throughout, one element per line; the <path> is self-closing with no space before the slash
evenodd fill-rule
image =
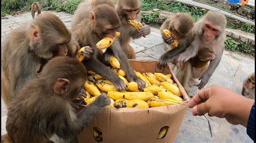
<path id="1" fill-rule="evenodd" d="M 225 11 L 225 10 L 221 10 L 219 8 L 215 8 L 215 7 L 213 7 L 211 5 L 208 5 L 208 4 L 203 4 L 203 3 L 195 2 L 195 1 L 192 1 L 192 0 L 177 0 L 177 1 L 185 3 L 185 4 L 194 5 L 194 6 L 197 6 L 199 8 L 203 8 L 203 9 L 208 9 L 208 10 L 212 10 L 212 11 L 218 11 L 218 12 L 223 13 L 227 17 L 240 20 L 241 22 L 251 23 L 253 25 L 255 24 L 255 22 L 253 20 L 251 20 L 251 19 L 239 16 L 239 15 L 235 15 L 234 13 L 231 13 L 231 12 L 228 12 L 228 11 Z"/>

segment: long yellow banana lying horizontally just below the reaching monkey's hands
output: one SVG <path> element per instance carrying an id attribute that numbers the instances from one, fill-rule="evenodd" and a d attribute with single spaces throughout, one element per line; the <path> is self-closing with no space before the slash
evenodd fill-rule
<path id="1" fill-rule="evenodd" d="M 142 99 L 143 101 L 147 101 L 153 97 L 151 92 L 119 92 L 119 91 L 109 91 L 107 92 L 107 96 L 110 98 L 117 99 Z"/>

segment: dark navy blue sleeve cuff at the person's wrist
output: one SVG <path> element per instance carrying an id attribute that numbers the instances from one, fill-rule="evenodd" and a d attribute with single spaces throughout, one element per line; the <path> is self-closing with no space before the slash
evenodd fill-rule
<path id="1" fill-rule="evenodd" d="M 248 124 L 247 124 L 247 134 L 249 137 L 255 141 L 255 102 L 252 105 L 251 113 L 248 119 Z"/>

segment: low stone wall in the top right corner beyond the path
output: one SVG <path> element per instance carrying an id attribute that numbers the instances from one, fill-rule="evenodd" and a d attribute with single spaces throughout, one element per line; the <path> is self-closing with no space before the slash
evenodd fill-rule
<path id="1" fill-rule="evenodd" d="M 218 8 L 228 9 L 237 15 L 247 17 L 249 19 L 255 20 L 255 7 L 252 5 L 239 5 L 230 2 L 225 2 L 224 0 L 194 0 L 196 2 L 208 3 Z"/>

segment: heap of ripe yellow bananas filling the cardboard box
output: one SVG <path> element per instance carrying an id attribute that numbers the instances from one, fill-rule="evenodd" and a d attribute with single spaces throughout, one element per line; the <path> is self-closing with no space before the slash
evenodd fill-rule
<path id="1" fill-rule="evenodd" d="M 183 102 L 181 93 L 176 83 L 171 79 L 172 75 L 161 73 L 140 73 L 135 71 L 136 76 L 146 82 L 146 87 L 140 91 L 136 82 L 128 82 L 124 70 L 120 69 L 119 61 L 110 57 L 111 69 L 127 85 L 127 91 L 118 91 L 113 83 L 106 80 L 94 71 L 88 71 L 88 80 L 84 83 L 86 98 L 84 102 L 90 104 L 100 95 L 107 92 L 111 99 L 109 106 L 116 108 L 140 108 L 147 109 L 157 106 L 174 105 Z"/>

